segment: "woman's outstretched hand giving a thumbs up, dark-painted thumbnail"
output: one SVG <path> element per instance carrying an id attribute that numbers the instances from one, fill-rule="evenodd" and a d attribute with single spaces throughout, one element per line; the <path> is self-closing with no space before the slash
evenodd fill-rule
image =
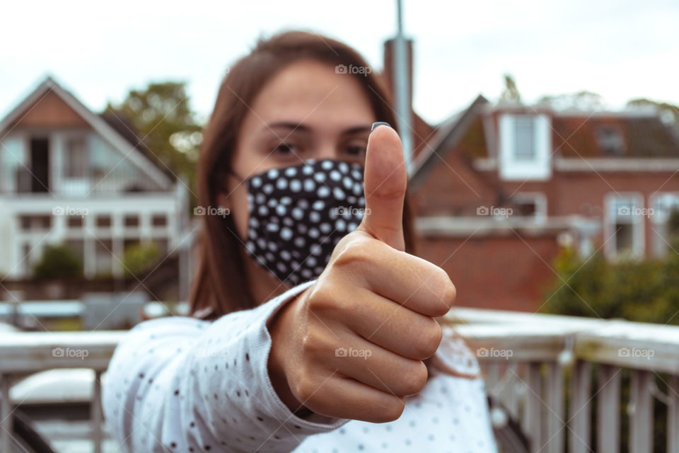
<path id="1" fill-rule="evenodd" d="M 444 270 L 404 251 L 406 184 L 400 139 L 380 125 L 368 139 L 361 224 L 269 325 L 269 375 L 292 411 L 393 421 L 404 397 L 426 384 L 422 360 L 442 338 L 434 317 L 451 308 L 455 287 Z"/>

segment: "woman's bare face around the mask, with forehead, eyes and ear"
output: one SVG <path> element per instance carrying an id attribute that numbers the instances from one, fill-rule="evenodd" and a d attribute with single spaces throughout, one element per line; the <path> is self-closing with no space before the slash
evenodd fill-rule
<path id="1" fill-rule="evenodd" d="M 359 81 L 331 64 L 301 60 L 279 71 L 250 105 L 231 162 L 242 178 L 306 159 L 365 161 L 377 121 Z M 241 239 L 248 230 L 248 191 L 230 176 L 219 197 L 231 209 Z"/>

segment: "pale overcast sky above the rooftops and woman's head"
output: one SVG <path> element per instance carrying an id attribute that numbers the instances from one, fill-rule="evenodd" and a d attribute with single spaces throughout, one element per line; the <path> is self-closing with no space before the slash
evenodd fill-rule
<path id="1" fill-rule="evenodd" d="M 679 104 L 679 1 L 404 0 L 414 108 L 438 123 L 511 73 L 525 101 L 580 90 L 610 108 Z M 104 7 L 105 5 L 105 7 Z M 332 6 L 337 5 L 337 6 Z M 99 111 L 149 81 L 184 80 L 207 117 L 224 69 L 259 35 L 305 28 L 382 69 L 395 1 L 12 1 L 0 25 L 0 116 L 47 74 Z"/>

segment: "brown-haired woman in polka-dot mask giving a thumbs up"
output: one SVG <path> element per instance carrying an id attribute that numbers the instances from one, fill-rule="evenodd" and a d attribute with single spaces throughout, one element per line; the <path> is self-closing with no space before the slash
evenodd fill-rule
<path id="1" fill-rule="evenodd" d="M 394 122 L 330 38 L 281 33 L 231 68 L 199 160 L 199 205 L 221 215 L 192 317 L 140 323 L 110 362 L 121 449 L 496 450 L 477 362 L 436 321 L 455 287 L 412 254 Z"/>

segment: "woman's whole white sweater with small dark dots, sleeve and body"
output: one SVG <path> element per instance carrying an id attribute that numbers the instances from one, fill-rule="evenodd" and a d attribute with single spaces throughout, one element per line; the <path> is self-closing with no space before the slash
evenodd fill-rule
<path id="1" fill-rule="evenodd" d="M 313 283 L 216 321 L 174 316 L 132 328 L 115 350 L 102 396 L 120 451 L 497 451 L 481 379 L 430 372 L 390 423 L 291 413 L 269 379 L 266 323 Z"/>

